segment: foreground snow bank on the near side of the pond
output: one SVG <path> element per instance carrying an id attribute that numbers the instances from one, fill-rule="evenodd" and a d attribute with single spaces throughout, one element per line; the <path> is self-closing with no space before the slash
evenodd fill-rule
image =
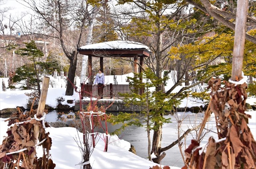
<path id="1" fill-rule="evenodd" d="M 4 122 L 5 119 L 0 118 L 0 142 L 3 141 L 3 136 L 7 136 L 7 124 Z M 81 161 L 81 154 L 78 149 L 78 145 L 74 141 L 78 135 L 82 139 L 82 133 L 78 132 L 75 128 L 64 127 L 64 128 L 47 128 L 46 132 L 50 133 L 52 138 L 52 147 L 50 153 L 52 160 L 56 164 L 57 169 L 73 169 L 79 168 L 77 165 Z M 104 151 L 104 142 L 99 139 L 97 142 L 92 155 L 90 157 L 90 164 L 93 169 L 113 169 L 113 168 L 140 168 L 148 169 L 157 165 L 151 161 L 141 158 L 127 149 L 130 148 L 130 143 L 124 140 L 119 140 L 117 136 L 110 138 L 112 142 L 108 145 L 108 152 Z M 42 148 L 37 149 L 37 156 L 43 154 Z M 171 167 L 172 169 L 178 169 L 178 167 Z"/>

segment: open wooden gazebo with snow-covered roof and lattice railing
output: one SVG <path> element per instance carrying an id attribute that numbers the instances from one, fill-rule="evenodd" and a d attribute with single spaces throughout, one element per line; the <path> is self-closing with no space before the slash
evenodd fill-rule
<path id="1" fill-rule="evenodd" d="M 92 74 L 92 57 L 100 58 L 100 69 L 103 71 L 103 58 L 111 57 L 111 58 L 124 58 L 124 57 L 133 57 L 134 61 L 134 73 L 138 73 L 138 57 L 140 58 L 139 73 L 142 72 L 143 60 L 144 57 L 150 56 L 150 49 L 148 46 L 143 45 L 142 43 L 133 42 L 133 41 L 109 41 L 96 43 L 91 45 L 82 46 L 77 48 L 82 55 L 88 55 L 88 75 Z M 97 86 L 92 86 L 93 79 L 92 76 L 88 78 L 88 84 L 81 84 L 82 95 L 89 96 L 90 93 L 92 95 L 97 95 Z M 129 85 L 104 85 L 104 96 L 110 96 L 112 98 L 113 95 L 118 96 L 118 93 L 127 93 L 130 92 Z M 143 92 L 142 89 L 139 90 L 140 93 Z"/>

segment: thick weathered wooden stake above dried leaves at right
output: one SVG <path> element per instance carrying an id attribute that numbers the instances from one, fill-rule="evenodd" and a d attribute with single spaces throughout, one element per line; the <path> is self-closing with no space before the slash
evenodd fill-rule
<path id="1" fill-rule="evenodd" d="M 235 40 L 232 60 L 231 80 L 235 81 L 242 75 L 243 58 L 244 58 L 244 42 L 246 32 L 248 0 L 238 0 L 236 10 Z"/>

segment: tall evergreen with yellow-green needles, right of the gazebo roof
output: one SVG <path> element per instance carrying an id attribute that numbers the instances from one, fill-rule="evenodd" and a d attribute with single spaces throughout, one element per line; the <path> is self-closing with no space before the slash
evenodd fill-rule
<path id="1" fill-rule="evenodd" d="M 164 68 L 168 67 L 172 61 L 169 58 L 171 54 L 168 53 L 172 46 L 193 43 L 198 36 L 210 31 L 213 25 L 207 16 L 194 13 L 193 11 L 195 10 L 188 8 L 183 1 L 119 0 L 118 3 L 131 4 L 131 11 L 125 9 L 122 13 L 124 18 L 130 19 L 128 25 L 121 26 L 122 30 L 127 32 L 129 40 L 139 41 L 150 47 L 152 54 L 150 57 L 145 58 L 145 64 L 152 69 L 158 79 L 162 78 Z M 175 65 L 179 69 L 177 69 L 176 86 L 183 82 L 183 77 L 188 71 L 192 58 L 183 56 L 177 61 L 179 62 L 175 63 Z M 172 67 L 169 66 L 169 68 L 171 72 Z M 166 73 L 166 76 L 168 74 L 169 72 Z M 172 87 L 166 94 L 169 95 L 175 87 Z M 182 88 L 172 98 L 179 97 L 184 90 L 186 89 Z M 157 84 L 156 92 L 165 93 L 164 82 Z M 158 115 L 163 117 L 161 113 Z M 158 150 L 161 149 L 162 126 L 157 124 L 156 126 L 159 129 L 154 130 L 152 152 L 159 157 L 160 151 Z"/>

